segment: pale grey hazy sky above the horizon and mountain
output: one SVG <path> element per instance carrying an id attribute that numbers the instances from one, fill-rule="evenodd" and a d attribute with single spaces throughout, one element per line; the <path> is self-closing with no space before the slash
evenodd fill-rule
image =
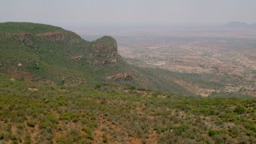
<path id="1" fill-rule="evenodd" d="M 58 26 L 217 26 L 256 22 L 256 0 L 0 0 L 0 22 Z"/>

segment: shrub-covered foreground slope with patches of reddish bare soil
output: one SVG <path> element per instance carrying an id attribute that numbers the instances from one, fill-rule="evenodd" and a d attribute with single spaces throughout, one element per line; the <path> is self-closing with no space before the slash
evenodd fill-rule
<path id="1" fill-rule="evenodd" d="M 0 142 L 256 142 L 255 99 L 0 78 Z"/>

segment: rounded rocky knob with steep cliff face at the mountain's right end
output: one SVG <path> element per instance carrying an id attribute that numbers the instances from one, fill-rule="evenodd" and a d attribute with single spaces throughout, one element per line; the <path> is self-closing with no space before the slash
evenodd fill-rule
<path id="1" fill-rule="evenodd" d="M 92 57 L 94 64 L 98 62 L 108 65 L 115 62 L 121 62 L 122 58 L 118 54 L 118 45 L 114 38 L 104 36 L 93 43 Z"/>

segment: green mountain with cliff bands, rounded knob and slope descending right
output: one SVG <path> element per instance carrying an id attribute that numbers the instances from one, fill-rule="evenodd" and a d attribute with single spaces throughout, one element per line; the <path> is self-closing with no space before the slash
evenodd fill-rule
<path id="1" fill-rule="evenodd" d="M 27 22 L 0 23 L 0 72 L 27 82 L 62 86 L 112 83 L 192 94 L 166 78 L 165 70 L 126 63 L 114 38 L 87 42 L 57 26 Z M 158 72 L 156 72 L 158 71 Z"/>

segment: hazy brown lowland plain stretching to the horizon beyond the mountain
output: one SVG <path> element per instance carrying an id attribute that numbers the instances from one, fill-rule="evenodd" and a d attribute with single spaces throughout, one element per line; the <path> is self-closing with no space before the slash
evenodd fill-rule
<path id="1" fill-rule="evenodd" d="M 197 94 L 238 92 L 256 96 L 256 30 L 229 28 L 77 30 L 84 38 L 112 34 L 118 53 L 143 67 L 158 67 L 181 74 L 200 74 L 216 88 L 199 86 L 186 79 L 172 80 Z"/>

